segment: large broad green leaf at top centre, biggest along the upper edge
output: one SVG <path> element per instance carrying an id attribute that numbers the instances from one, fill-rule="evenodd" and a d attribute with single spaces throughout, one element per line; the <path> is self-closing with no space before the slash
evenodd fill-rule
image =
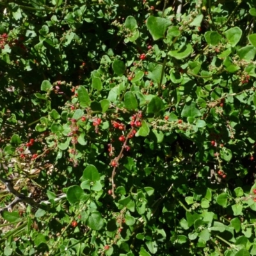
<path id="1" fill-rule="evenodd" d="M 150 16 L 147 19 L 147 28 L 149 33 L 152 35 L 153 39 L 156 41 L 164 37 L 166 29 L 170 26 L 172 22 L 168 19 Z"/>

